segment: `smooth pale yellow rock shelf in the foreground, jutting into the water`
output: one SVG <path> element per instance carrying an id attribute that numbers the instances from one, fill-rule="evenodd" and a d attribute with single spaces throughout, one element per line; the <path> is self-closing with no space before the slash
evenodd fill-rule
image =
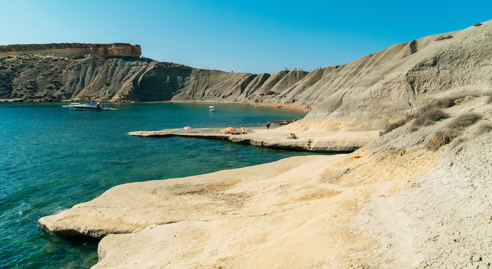
<path id="1" fill-rule="evenodd" d="M 110 234 L 94 269 L 349 267 L 378 244 L 354 226 L 361 209 L 401 182 L 382 180 L 378 162 L 361 150 L 129 183 L 40 223 Z"/>

